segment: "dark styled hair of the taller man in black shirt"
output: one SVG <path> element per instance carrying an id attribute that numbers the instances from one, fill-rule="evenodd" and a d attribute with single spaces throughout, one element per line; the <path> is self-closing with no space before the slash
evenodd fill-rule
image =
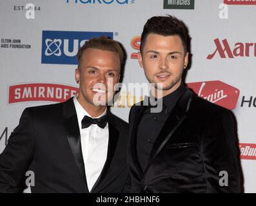
<path id="1" fill-rule="evenodd" d="M 184 47 L 184 54 L 188 51 L 188 28 L 186 25 L 173 17 L 172 15 L 167 16 L 155 16 L 148 19 L 143 28 L 143 33 L 141 34 L 141 46 L 140 51 L 143 52 L 144 44 L 146 42 L 146 37 L 150 33 L 155 33 L 163 36 L 178 35 L 181 38 L 182 45 Z"/>

